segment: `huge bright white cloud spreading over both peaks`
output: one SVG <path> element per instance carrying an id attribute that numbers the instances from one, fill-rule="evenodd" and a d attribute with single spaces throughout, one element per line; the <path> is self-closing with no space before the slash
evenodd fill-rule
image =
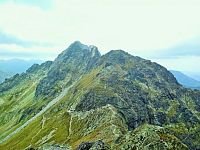
<path id="1" fill-rule="evenodd" d="M 0 4 L 0 29 L 21 39 L 47 42 L 60 52 L 75 40 L 102 53 L 124 49 L 149 57 L 200 35 L 198 0 L 53 0 L 50 9 Z M 12 48 L 13 49 L 13 48 Z M 40 47 L 27 51 L 45 51 Z M 26 49 L 24 49 L 26 50 Z"/>

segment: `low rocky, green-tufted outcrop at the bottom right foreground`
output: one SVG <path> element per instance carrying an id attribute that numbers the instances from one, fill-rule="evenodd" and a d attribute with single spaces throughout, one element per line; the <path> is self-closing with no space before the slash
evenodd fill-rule
<path id="1" fill-rule="evenodd" d="M 139 127 L 137 130 L 120 137 L 115 148 L 125 150 L 188 149 L 185 144 L 175 136 L 167 133 L 165 129 L 146 124 Z"/>

